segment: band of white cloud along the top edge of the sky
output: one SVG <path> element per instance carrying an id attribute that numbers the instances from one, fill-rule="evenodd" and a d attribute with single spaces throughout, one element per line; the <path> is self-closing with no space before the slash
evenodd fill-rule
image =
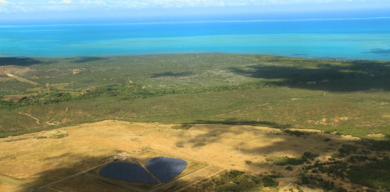
<path id="1" fill-rule="evenodd" d="M 0 0 L 0 12 L 43 12 L 67 10 L 119 10 L 144 8 L 238 7 L 345 2 L 385 2 L 385 0 Z M 22 2 L 23 1 L 23 2 Z M 387 3 L 389 4 L 389 3 Z"/>

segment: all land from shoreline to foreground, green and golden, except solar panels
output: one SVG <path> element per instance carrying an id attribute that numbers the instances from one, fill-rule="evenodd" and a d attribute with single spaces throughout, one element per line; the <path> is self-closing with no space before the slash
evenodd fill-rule
<path id="1" fill-rule="evenodd" d="M 389 191 L 389 84 L 381 61 L 0 58 L 0 189 Z M 99 175 L 117 154 L 187 166 L 158 185 Z"/>

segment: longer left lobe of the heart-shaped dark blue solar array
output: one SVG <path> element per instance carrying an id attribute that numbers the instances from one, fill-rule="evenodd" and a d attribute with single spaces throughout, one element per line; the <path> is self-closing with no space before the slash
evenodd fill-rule
<path id="1" fill-rule="evenodd" d="M 99 174 L 127 182 L 158 184 L 156 179 L 154 179 L 142 166 L 126 162 L 110 163 L 104 168 L 101 168 Z"/>

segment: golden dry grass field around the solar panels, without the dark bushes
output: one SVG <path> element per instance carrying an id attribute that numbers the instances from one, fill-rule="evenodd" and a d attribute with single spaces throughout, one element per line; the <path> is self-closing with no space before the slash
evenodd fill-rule
<path id="1" fill-rule="evenodd" d="M 341 144 L 360 140 L 317 130 L 300 130 L 306 135 L 296 137 L 268 127 L 199 124 L 184 130 L 172 126 L 106 120 L 2 138 L 0 176 L 66 192 L 176 191 L 224 169 L 238 169 L 255 176 L 277 170 L 284 175 L 277 178 L 279 188 L 284 189 L 295 181 L 296 171 L 274 166 L 266 161 L 267 157 L 301 157 L 309 151 L 323 160 Z M 326 138 L 331 141 L 324 141 Z M 158 156 L 179 157 L 188 166 L 173 182 L 150 188 L 101 178 L 97 170 L 112 162 L 119 151 L 142 163 Z M 5 191 L 13 189 L 0 184 Z"/>

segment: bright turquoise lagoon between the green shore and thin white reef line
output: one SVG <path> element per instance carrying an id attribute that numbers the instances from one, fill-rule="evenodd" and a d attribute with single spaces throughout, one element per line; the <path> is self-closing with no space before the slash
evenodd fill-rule
<path id="1" fill-rule="evenodd" d="M 0 26 L 0 57 L 214 52 L 390 61 L 390 17 Z"/>

